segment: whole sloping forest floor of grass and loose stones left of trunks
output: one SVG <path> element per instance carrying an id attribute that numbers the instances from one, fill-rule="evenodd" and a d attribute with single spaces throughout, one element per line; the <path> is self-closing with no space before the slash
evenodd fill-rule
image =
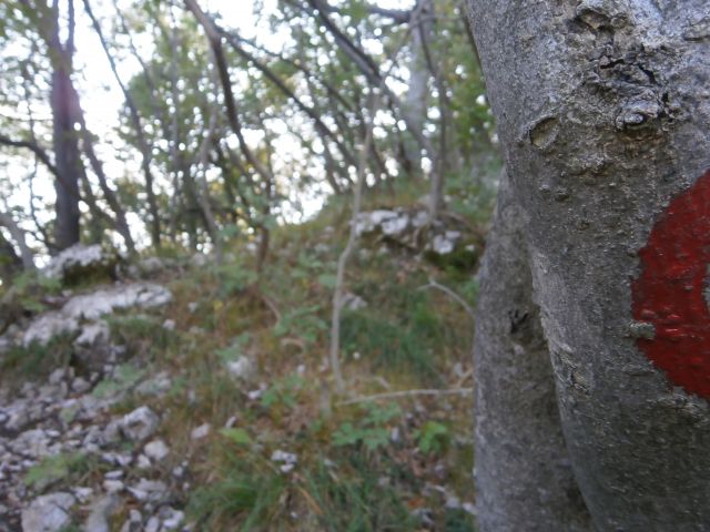
<path id="1" fill-rule="evenodd" d="M 413 219 L 420 193 L 365 198 L 366 211 Z M 489 205 L 449 198 L 466 253 L 417 249 L 418 233 L 412 245 L 377 231 L 358 239 L 344 393 L 327 356 L 346 198 L 276 228 L 258 276 L 237 245 L 222 265 L 178 252 L 124 265 L 114 288 L 150 283 L 170 301 L 103 317 L 89 362 L 77 335 L 0 342 L 0 531 L 50 516 L 57 528 L 41 530 L 475 530 L 465 305 Z M 105 283 L 26 285 L 17 335 Z"/>

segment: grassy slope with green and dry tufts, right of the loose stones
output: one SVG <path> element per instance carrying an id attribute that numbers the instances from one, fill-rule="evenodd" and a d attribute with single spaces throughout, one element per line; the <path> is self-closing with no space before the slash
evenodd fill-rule
<path id="1" fill-rule="evenodd" d="M 397 185 L 389 195 L 366 195 L 364 208 L 410 205 L 425 192 L 423 184 Z M 457 202 L 453 207 L 484 208 Z M 174 503 L 186 504 L 195 530 L 475 530 L 468 513 L 444 504 L 447 494 L 473 498 L 469 398 L 345 406 L 333 391 L 324 358 L 348 205 L 347 197 L 332 198 L 313 221 L 276 228 L 261 277 L 240 247 L 226 249 L 236 258 L 220 267 L 191 267 L 174 253 L 185 265 L 158 279 L 169 285 L 173 303 L 110 319 L 114 342 L 133 359 L 93 393 L 128 390 L 113 415 L 140 405 L 170 412 L 155 437 L 170 442 L 171 454 L 151 474 L 190 463 L 193 488 L 176 492 Z M 378 254 L 367 243 L 359 246 L 346 289 L 367 307 L 345 311 L 342 321 L 349 395 L 469 386 L 470 375 L 456 368 L 469 366 L 470 318 L 447 295 L 420 288 L 434 277 L 473 305 L 470 264 L 449 268 L 405 249 Z M 174 330 L 163 328 L 165 319 Z M 13 364 L 28 356 L 16 354 Z M 226 370 L 242 356 L 255 368 L 247 380 Z M 131 391 L 158 371 L 171 376 L 165 395 Z M 222 429 L 232 418 L 233 426 Z M 213 430 L 192 440 L 191 430 L 205 422 Z M 292 470 L 273 459 L 276 451 L 297 457 Z M 61 461 L 42 468 L 30 483 L 79 474 Z"/>

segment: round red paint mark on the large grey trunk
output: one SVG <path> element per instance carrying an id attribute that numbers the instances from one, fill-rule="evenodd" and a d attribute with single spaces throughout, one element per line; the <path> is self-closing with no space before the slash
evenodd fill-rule
<path id="1" fill-rule="evenodd" d="M 671 382 L 710 399 L 710 171 L 670 203 L 639 256 L 633 319 L 656 337 L 638 346 Z"/>

